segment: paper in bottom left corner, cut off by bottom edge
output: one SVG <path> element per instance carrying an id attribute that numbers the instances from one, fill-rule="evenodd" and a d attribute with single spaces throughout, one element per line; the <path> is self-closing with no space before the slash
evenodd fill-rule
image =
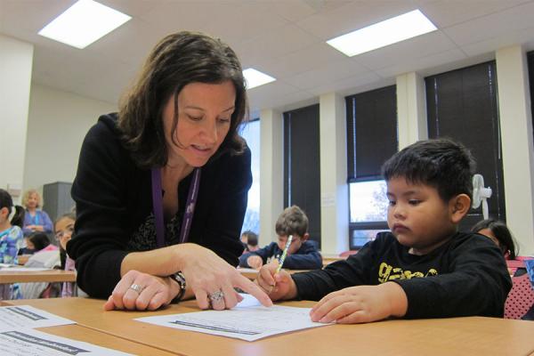
<path id="1" fill-rule="evenodd" d="M 54 336 L 31 328 L 0 327 L 0 354 L 24 356 L 77 355 L 126 356 L 104 347 Z"/>

